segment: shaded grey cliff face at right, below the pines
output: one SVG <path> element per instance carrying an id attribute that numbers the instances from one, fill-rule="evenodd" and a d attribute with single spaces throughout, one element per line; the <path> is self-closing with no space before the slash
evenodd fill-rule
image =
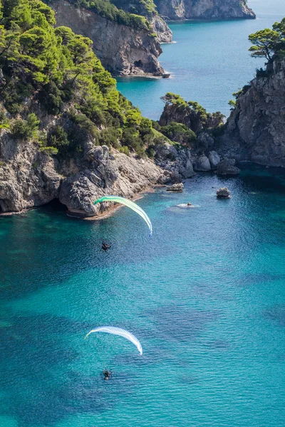
<path id="1" fill-rule="evenodd" d="M 245 86 L 219 149 L 232 157 L 285 167 L 285 60 L 274 60 Z"/>

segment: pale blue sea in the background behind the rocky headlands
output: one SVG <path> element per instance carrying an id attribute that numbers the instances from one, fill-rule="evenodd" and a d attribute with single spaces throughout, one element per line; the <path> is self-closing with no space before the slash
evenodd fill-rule
<path id="1" fill-rule="evenodd" d="M 162 46 L 170 79 L 119 78 L 118 90 L 146 117 L 159 119 L 167 92 L 195 100 L 210 112 L 229 114 L 232 93 L 254 78 L 263 59 L 251 58 L 248 36 L 285 16 L 284 0 L 250 0 L 256 20 L 170 23 L 175 44 Z"/>

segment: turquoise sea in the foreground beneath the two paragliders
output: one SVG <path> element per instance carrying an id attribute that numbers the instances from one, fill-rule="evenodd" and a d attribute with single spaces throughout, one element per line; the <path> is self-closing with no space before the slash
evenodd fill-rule
<path id="1" fill-rule="evenodd" d="M 54 206 L 0 218 L 0 426 L 284 426 L 285 174 L 273 173 L 145 196 L 152 238 L 125 207 L 100 222 Z M 217 200 L 224 185 L 232 199 Z M 175 207 L 187 201 L 199 209 Z M 96 325 L 133 332 L 142 357 L 120 337 L 84 340 Z"/>

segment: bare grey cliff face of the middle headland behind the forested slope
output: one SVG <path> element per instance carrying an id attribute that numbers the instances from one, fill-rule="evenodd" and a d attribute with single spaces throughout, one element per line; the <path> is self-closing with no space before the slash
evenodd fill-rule
<path id="1" fill-rule="evenodd" d="M 96 56 L 113 75 L 163 75 L 157 60 L 162 49 L 149 31 L 110 21 L 66 0 L 55 0 L 51 6 L 56 11 L 57 26 L 69 26 L 89 37 Z M 162 26 L 162 22 L 155 21 L 155 26 Z"/>

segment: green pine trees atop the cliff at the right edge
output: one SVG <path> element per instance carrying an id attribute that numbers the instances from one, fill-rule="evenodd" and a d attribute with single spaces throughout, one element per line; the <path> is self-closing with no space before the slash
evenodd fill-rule
<path id="1" fill-rule="evenodd" d="M 249 35 L 253 46 L 249 48 L 255 58 L 266 58 L 270 61 L 274 56 L 285 56 L 285 18 L 276 22 L 273 29 L 265 28 Z"/>

